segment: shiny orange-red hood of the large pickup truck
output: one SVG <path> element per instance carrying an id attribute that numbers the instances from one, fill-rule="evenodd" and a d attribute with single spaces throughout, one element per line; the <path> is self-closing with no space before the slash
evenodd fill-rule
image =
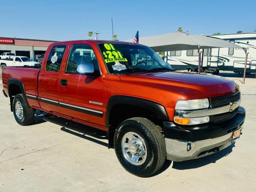
<path id="1" fill-rule="evenodd" d="M 189 99 L 219 97 L 239 91 L 233 80 L 208 74 L 161 72 L 121 75 L 120 79 L 182 93 Z"/>

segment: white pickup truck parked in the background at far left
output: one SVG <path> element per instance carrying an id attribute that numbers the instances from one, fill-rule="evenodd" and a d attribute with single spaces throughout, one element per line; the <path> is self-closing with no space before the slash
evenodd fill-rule
<path id="1" fill-rule="evenodd" d="M 31 61 L 28 57 L 23 56 L 14 56 L 10 59 L 1 59 L 0 60 L 1 69 L 4 67 L 41 67 L 41 63 Z"/>

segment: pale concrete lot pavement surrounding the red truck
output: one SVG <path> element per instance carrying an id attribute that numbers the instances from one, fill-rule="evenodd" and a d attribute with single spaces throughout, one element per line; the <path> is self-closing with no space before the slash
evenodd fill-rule
<path id="1" fill-rule="evenodd" d="M 45 122 L 14 120 L 0 81 L 0 191 L 255 191 L 256 79 L 220 73 L 239 83 L 246 121 L 241 138 L 197 160 L 166 161 L 150 178 L 127 173 L 107 140 Z M 1 78 L 2 79 L 2 78 Z"/>

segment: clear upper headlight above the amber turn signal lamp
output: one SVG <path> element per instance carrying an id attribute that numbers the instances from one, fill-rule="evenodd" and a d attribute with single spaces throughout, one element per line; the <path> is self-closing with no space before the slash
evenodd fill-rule
<path id="1" fill-rule="evenodd" d="M 198 110 L 210 106 L 208 99 L 178 100 L 175 106 L 176 110 Z"/>

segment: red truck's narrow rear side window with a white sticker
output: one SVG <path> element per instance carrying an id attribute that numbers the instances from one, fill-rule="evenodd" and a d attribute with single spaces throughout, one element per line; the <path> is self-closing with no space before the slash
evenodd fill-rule
<path id="1" fill-rule="evenodd" d="M 46 71 L 58 72 L 60 70 L 66 45 L 53 46 L 46 62 Z"/>

